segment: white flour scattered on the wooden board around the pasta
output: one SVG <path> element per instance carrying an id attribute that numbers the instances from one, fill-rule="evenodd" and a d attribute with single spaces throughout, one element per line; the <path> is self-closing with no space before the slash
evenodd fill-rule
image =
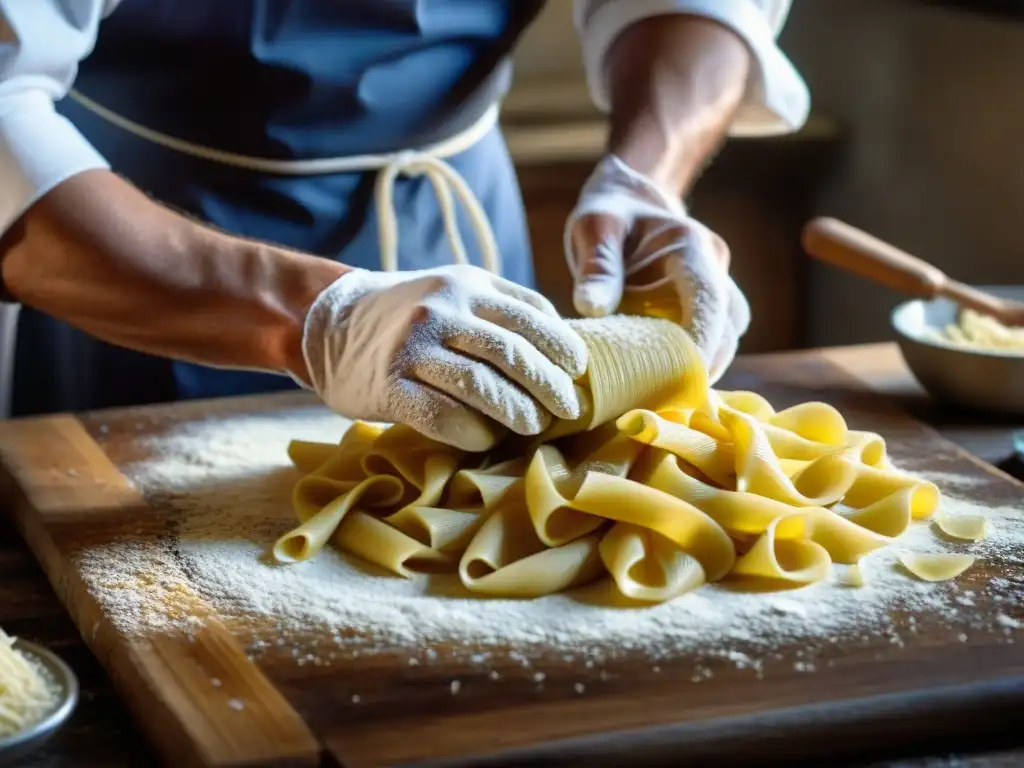
<path id="1" fill-rule="evenodd" d="M 932 525 L 915 524 L 861 561 L 863 587 L 847 586 L 837 566 L 828 581 L 797 590 L 744 593 L 710 585 L 652 607 L 608 608 L 593 590 L 523 601 L 479 599 L 454 575 L 404 580 L 330 548 L 309 562 L 270 563 L 269 545 L 294 524 L 297 474 L 286 454 L 289 440 L 336 442 L 343 428 L 322 409 L 303 408 L 272 418 L 190 424 L 155 440 L 147 446 L 153 455 L 126 472 L 168 514 L 167 530 L 87 550 L 80 570 L 90 590 L 131 634 L 187 621 L 210 605 L 223 621 L 251 632 L 254 653 L 287 650 L 298 642 L 293 638 L 315 635 L 346 652 L 403 650 L 427 663 L 436 657 L 429 646 L 445 643 L 473 658 L 484 657 L 480 650 L 488 647 L 515 657 L 509 648 L 543 646 L 588 658 L 622 651 L 654 658 L 693 653 L 759 670 L 773 648 L 793 642 L 820 649 L 888 638 L 901 646 L 902 635 L 915 631 L 915 615 L 948 626 L 962 640 L 976 631 L 1009 636 L 1024 617 L 1024 596 L 1018 597 L 1024 575 L 1012 567 L 1024 563 L 1024 500 L 1014 509 L 958 499 L 974 482 L 966 475 L 927 479 L 952 494 L 944 496 L 946 510 L 984 513 L 989 538 L 949 543 Z M 920 582 L 898 565 L 900 549 L 970 552 L 995 562 L 998 577 L 975 583 L 968 571 L 959 584 Z M 1006 618 L 993 624 L 973 613 L 972 598 L 981 594 L 1002 601 Z M 319 665 L 335 657 L 328 650 L 294 647 L 292 653 L 298 664 Z M 814 669 L 811 658 L 799 664 L 800 670 Z"/>

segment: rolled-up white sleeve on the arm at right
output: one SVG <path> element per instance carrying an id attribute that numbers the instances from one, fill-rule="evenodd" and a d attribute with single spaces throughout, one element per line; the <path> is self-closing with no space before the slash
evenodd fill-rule
<path id="1" fill-rule="evenodd" d="M 591 96 L 609 109 L 605 58 L 612 44 L 637 22 L 682 13 L 714 19 L 746 43 L 754 67 L 731 135 L 771 135 L 802 127 L 810 111 L 807 84 L 778 47 L 791 0 L 575 0 L 575 26 L 583 46 Z"/>

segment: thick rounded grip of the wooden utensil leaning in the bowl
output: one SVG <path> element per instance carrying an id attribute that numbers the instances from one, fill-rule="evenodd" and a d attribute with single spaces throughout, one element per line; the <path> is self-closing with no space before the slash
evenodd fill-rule
<path id="1" fill-rule="evenodd" d="M 803 245 L 816 259 L 910 296 L 930 299 L 949 282 L 938 267 L 834 218 L 809 221 Z"/>

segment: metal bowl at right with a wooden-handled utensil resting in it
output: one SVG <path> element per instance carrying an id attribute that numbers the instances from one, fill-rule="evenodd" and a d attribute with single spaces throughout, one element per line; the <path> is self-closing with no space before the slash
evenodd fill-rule
<path id="1" fill-rule="evenodd" d="M 979 286 L 996 296 L 1024 301 L 1024 286 Z M 1024 416 L 1024 352 L 973 349 L 931 334 L 956 319 L 948 299 L 913 300 L 893 310 L 903 359 L 936 399 L 1013 416 Z"/>

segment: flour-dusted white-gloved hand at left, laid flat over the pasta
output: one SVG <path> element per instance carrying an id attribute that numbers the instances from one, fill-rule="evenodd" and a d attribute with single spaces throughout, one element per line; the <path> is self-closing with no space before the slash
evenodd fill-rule
<path id="1" fill-rule="evenodd" d="M 543 296 L 475 266 L 348 272 L 313 303 L 303 351 L 339 414 L 408 424 L 466 451 L 502 427 L 574 419 L 587 348 Z"/>

